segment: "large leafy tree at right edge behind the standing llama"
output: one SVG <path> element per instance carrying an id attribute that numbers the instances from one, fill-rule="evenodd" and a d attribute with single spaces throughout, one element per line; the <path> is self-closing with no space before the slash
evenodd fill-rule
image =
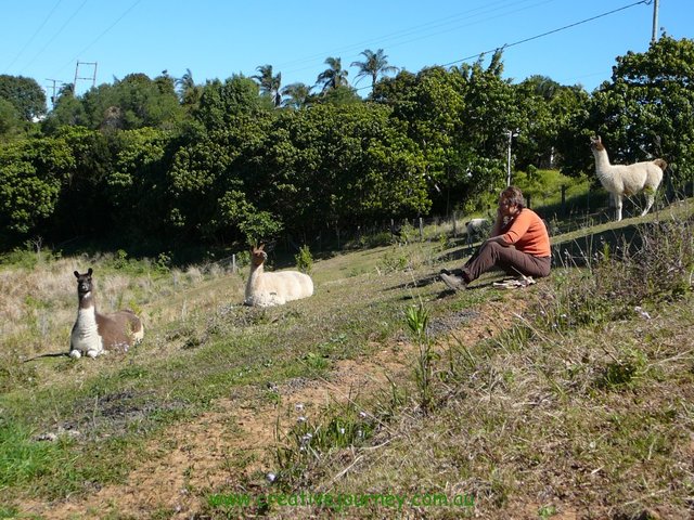
<path id="1" fill-rule="evenodd" d="M 611 81 L 577 119 L 573 140 L 561 142 L 568 172 L 593 170 L 589 136 L 601 134 L 613 162 L 660 156 L 674 187 L 694 173 L 694 40 L 663 36 L 644 53 L 617 57 Z M 571 156 L 566 148 L 580 150 Z"/>

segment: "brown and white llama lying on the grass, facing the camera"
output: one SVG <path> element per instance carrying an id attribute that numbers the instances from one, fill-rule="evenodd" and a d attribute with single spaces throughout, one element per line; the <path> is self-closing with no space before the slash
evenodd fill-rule
<path id="1" fill-rule="evenodd" d="M 142 321 L 130 310 L 113 314 L 101 314 L 94 303 L 94 285 L 91 268 L 77 277 L 77 321 L 69 338 L 69 355 L 79 359 L 82 354 L 97 358 L 104 350 L 129 347 L 140 342 L 144 336 Z"/>

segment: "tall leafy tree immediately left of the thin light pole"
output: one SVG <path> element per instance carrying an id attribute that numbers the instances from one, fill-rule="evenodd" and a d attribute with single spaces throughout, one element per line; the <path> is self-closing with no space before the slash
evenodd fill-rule
<path id="1" fill-rule="evenodd" d="M 408 122 L 409 135 L 426 158 L 435 211 L 484 206 L 505 179 L 506 135 L 519 125 L 513 88 L 502 79 L 501 52 L 446 70 L 383 79 L 373 92 Z"/>

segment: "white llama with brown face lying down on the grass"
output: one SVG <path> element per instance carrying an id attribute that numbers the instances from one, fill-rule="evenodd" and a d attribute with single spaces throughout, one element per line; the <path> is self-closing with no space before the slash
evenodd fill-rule
<path id="1" fill-rule="evenodd" d="M 262 264 L 268 259 L 264 246 L 250 250 L 250 276 L 246 284 L 244 303 L 253 307 L 283 306 L 287 301 L 307 298 L 313 294 L 313 281 L 298 271 L 266 273 Z"/>

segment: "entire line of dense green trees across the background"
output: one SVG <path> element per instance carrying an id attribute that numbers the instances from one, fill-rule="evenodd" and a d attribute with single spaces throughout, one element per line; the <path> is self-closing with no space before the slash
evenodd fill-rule
<path id="1" fill-rule="evenodd" d="M 694 40 L 664 35 L 618 56 L 592 93 L 545 76 L 514 83 L 502 51 L 419 73 L 382 50 L 362 55 L 352 66 L 371 80 L 364 99 L 332 57 L 312 88 L 282 88 L 270 65 L 204 84 L 190 70 L 131 74 L 83 95 L 64 86 L 49 113 L 34 80 L 0 76 L 0 247 L 36 236 L 307 242 L 473 211 L 505 184 L 510 139 L 518 171 L 592 171 L 600 133 L 613 162 L 659 156 L 676 185 L 692 177 Z"/>

